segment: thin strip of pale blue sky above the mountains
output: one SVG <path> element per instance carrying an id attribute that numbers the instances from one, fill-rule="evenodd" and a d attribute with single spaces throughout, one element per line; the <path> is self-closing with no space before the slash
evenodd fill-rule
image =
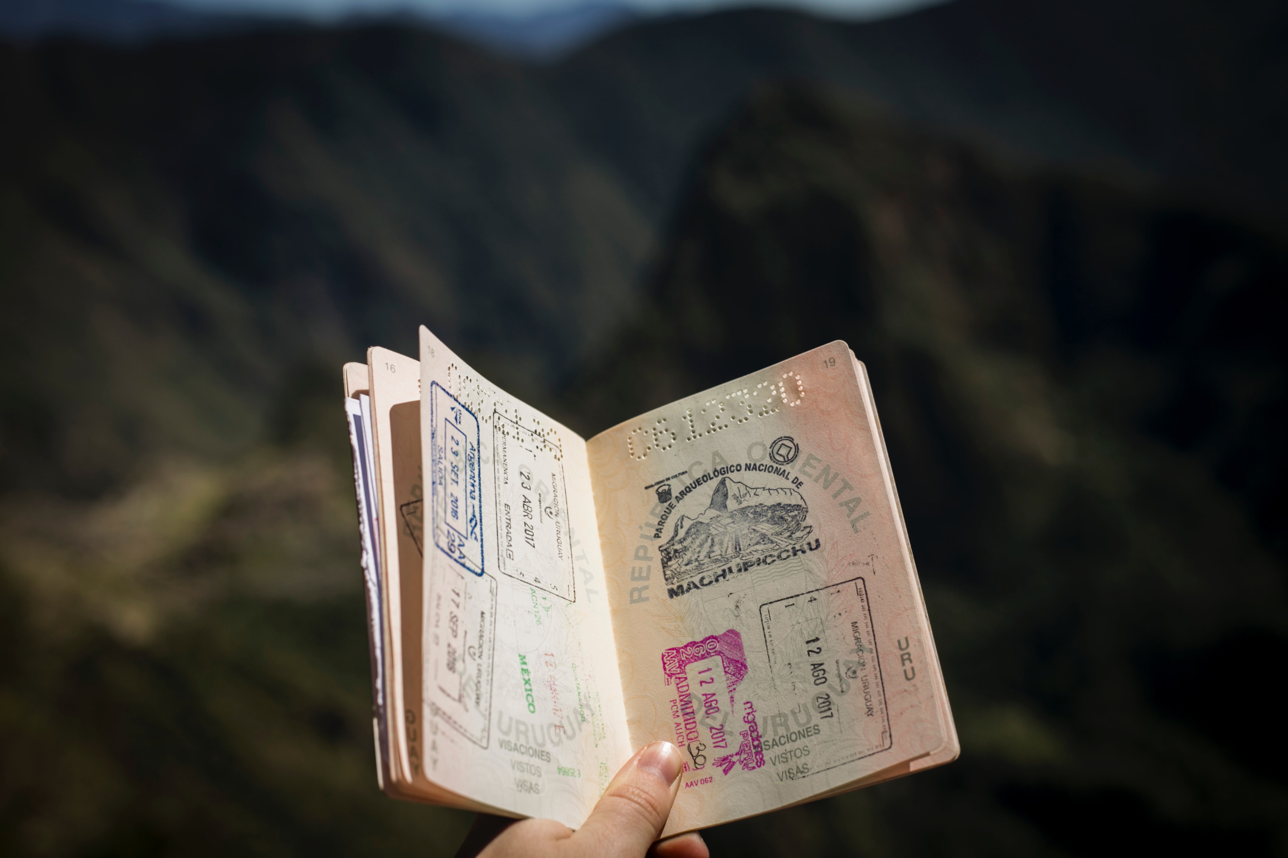
<path id="1" fill-rule="evenodd" d="M 355 14 L 415 12 L 426 17 L 452 13 L 493 13 L 526 18 L 545 12 L 590 5 L 587 0 L 170 0 L 175 5 L 219 12 L 290 14 L 319 21 Z M 880 18 L 934 4 L 936 0 L 608 0 L 643 14 L 707 12 L 729 6 L 772 5 L 805 9 L 844 18 Z"/>

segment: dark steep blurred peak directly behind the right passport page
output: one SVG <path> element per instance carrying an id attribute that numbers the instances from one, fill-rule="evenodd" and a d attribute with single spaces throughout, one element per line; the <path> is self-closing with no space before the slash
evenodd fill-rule
<path id="1" fill-rule="evenodd" d="M 611 424 L 846 340 L 962 758 L 714 854 L 1282 854 L 1288 758 L 1253 737 L 1288 656 L 1285 287 L 1285 230 L 753 96 L 572 401 Z"/>

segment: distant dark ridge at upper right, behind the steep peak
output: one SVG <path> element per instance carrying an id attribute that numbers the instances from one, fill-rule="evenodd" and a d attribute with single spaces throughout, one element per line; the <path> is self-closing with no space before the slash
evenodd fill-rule
<path id="1" fill-rule="evenodd" d="M 735 10 L 613 33 L 563 63 L 556 85 L 650 211 L 674 203 L 689 148 L 732 99 L 795 78 L 1029 163 L 1282 217 L 1285 45 L 1288 6 L 1273 0 L 957 0 L 862 24 Z"/>

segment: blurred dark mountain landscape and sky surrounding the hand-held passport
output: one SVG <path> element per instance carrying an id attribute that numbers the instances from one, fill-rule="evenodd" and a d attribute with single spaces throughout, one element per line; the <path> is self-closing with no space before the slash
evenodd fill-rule
<path id="1" fill-rule="evenodd" d="M 0 853 L 383 798 L 340 364 L 591 435 L 846 340 L 962 740 L 716 855 L 1288 854 L 1288 5 L 0 0 Z"/>

